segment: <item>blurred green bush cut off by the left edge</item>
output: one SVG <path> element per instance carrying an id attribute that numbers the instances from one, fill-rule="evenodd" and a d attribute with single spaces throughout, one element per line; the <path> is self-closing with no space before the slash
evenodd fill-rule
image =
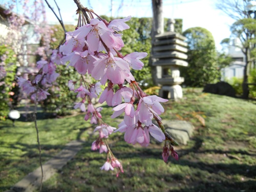
<path id="1" fill-rule="evenodd" d="M 13 81 L 16 74 L 16 55 L 7 45 L 0 46 L 0 120 L 5 120 L 10 111 Z"/>

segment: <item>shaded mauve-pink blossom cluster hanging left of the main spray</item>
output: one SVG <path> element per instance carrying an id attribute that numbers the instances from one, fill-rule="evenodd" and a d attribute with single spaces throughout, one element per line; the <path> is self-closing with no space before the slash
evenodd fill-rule
<path id="1" fill-rule="evenodd" d="M 32 100 L 41 101 L 50 95 L 47 89 L 59 76 L 55 63 L 62 63 L 60 56 L 57 50 L 53 50 L 50 59 L 37 61 L 38 72 L 35 75 L 30 75 L 28 79 L 17 77 L 19 87 L 26 95 L 30 95 Z"/>

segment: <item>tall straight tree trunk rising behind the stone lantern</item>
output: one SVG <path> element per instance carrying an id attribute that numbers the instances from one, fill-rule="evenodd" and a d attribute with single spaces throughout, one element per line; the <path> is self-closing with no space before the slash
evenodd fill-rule
<path id="1" fill-rule="evenodd" d="M 157 34 L 161 34 L 164 32 L 164 20 L 163 20 L 163 1 L 162 0 L 152 0 L 152 8 L 153 8 L 153 26 L 151 31 L 152 38 L 152 50 L 151 50 L 151 58 L 150 58 L 150 66 L 151 66 L 151 74 L 153 78 L 153 83 L 156 84 L 157 79 L 157 69 L 156 66 L 153 66 L 153 43 L 155 41 L 155 36 Z"/>

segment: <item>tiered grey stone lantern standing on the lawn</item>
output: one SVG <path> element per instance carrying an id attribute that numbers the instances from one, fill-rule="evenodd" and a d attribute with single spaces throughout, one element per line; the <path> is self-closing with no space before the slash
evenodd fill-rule
<path id="1" fill-rule="evenodd" d="M 180 77 L 179 66 L 188 66 L 186 39 L 174 32 L 174 19 L 169 20 L 169 31 L 155 36 L 153 42 L 153 66 L 157 69 L 157 84 L 161 89 L 159 96 L 168 99 L 182 98 L 180 84 L 184 78 Z"/>

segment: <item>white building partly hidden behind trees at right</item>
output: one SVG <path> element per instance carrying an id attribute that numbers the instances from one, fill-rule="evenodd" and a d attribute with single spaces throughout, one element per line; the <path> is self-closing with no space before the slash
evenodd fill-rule
<path id="1" fill-rule="evenodd" d="M 243 78 L 244 66 L 245 66 L 245 55 L 238 47 L 240 46 L 239 39 L 233 39 L 232 44 L 227 48 L 227 54 L 231 56 L 234 61 L 224 69 L 222 69 L 221 80 L 231 80 L 232 77 Z"/>

